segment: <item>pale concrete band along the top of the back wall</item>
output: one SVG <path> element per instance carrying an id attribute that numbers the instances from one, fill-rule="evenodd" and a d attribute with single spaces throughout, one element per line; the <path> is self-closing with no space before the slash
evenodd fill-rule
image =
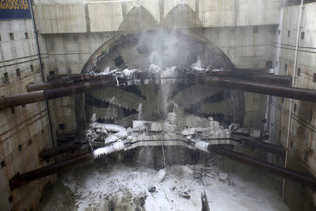
<path id="1" fill-rule="evenodd" d="M 139 3 L 139 4 L 138 4 Z M 281 0 L 35 1 L 41 34 L 271 25 Z"/>

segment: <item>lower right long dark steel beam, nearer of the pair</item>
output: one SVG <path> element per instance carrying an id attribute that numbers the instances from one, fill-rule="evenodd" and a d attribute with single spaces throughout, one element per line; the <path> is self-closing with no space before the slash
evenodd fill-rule
<path id="1" fill-rule="evenodd" d="M 242 153 L 237 153 L 223 148 L 213 147 L 211 146 L 211 144 L 209 144 L 207 149 L 211 152 L 218 153 L 237 162 L 242 162 L 246 165 L 258 167 L 262 170 L 271 172 L 272 174 L 277 174 L 281 177 L 284 177 L 285 179 L 289 179 L 304 184 L 305 186 L 311 188 L 313 191 L 316 191 L 316 180 L 314 178 L 305 176 L 299 172 L 295 172 L 284 167 L 279 167 L 278 165 L 269 162 L 264 162 L 256 158 L 251 158 L 246 155 L 243 155 Z"/>

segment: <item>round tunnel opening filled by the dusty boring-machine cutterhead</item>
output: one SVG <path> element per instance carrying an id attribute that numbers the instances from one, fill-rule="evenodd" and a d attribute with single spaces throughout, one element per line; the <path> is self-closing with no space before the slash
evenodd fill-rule
<path id="1" fill-rule="evenodd" d="M 87 63 L 82 73 L 107 75 L 110 72 L 128 72 L 127 77 L 131 78 L 134 72 L 140 71 L 145 74 L 159 75 L 162 78 L 180 78 L 183 77 L 180 75 L 183 72 L 201 75 L 209 70 L 235 72 L 234 65 L 223 51 L 211 41 L 190 30 L 127 33 L 119 35 L 116 41 L 111 40 L 109 43 L 103 44 L 98 49 L 91 59 L 93 65 Z M 189 132 L 186 137 L 198 139 L 200 134 L 207 134 L 206 128 L 212 127 L 210 122 L 220 124 L 216 129 L 227 130 L 232 123 L 242 125 L 245 113 L 243 91 L 211 84 L 197 84 L 190 82 L 190 77 L 193 76 L 185 75 L 186 80 L 183 82 L 121 84 L 115 88 L 86 91 L 77 96 L 76 105 L 79 105 L 77 115 L 81 114 L 81 119 L 77 118 L 77 124 L 79 127 L 85 128 L 83 131 L 86 132 L 86 124 L 91 123 L 91 117 L 93 117 L 95 118 L 93 121 L 103 126 L 115 124 L 132 130 L 144 127 L 139 129 L 138 134 L 145 133 L 148 141 L 151 139 L 156 141 L 150 145 L 155 146 L 162 140 L 170 140 L 170 143 L 165 144 L 171 146 L 163 146 L 162 143 L 163 150 L 153 147 L 150 151 L 148 148 L 144 148 L 146 143 L 144 146 L 143 143 L 140 143 L 136 151 L 125 151 L 124 154 L 141 158 L 147 157 L 147 153 L 150 151 L 153 155 L 152 158 L 155 158 L 157 152 L 159 152 L 157 154 L 161 154 L 164 151 L 172 156 L 166 156 L 163 159 L 163 165 L 159 156 L 159 158 L 151 159 L 150 162 L 147 160 L 142 163 L 136 160 L 134 165 L 143 164 L 156 170 L 162 169 L 166 165 L 185 165 L 185 160 L 199 153 L 183 148 L 185 144 L 180 145 L 182 147 L 172 147 L 173 139 L 174 141 L 181 139 L 174 137 L 175 134 L 181 134 L 184 129 L 191 129 L 192 132 Z M 176 116 L 174 120 L 173 116 Z M 204 128 L 204 132 L 196 132 L 202 128 Z M 213 128 L 213 130 L 216 129 Z M 105 139 L 109 140 L 109 136 L 112 137 L 111 133 L 110 135 L 103 134 L 101 130 L 93 129 L 93 134 L 98 138 L 91 137 L 92 145 L 100 146 L 103 143 L 105 145 L 110 143 Z M 91 131 L 89 130 L 89 132 Z M 125 138 L 126 136 L 123 139 Z M 136 139 L 143 138 L 136 137 Z M 138 141 L 144 142 L 145 139 Z M 232 148 L 232 146 L 223 147 Z M 197 162 L 198 160 L 195 160 L 192 164 L 197 164 Z"/>

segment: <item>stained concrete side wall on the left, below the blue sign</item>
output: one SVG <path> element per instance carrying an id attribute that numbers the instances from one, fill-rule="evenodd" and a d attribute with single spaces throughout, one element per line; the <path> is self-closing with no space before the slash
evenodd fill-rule
<path id="1" fill-rule="evenodd" d="M 32 20 L 2 20 L 0 35 L 0 95 L 25 93 L 27 84 L 41 82 Z M 45 66 L 48 56 L 44 42 L 40 40 L 40 43 Z M 53 162 L 40 160 L 38 156 L 43 148 L 51 148 L 49 134 L 45 102 L 0 111 L 0 210 L 37 207 L 41 190 L 53 177 L 14 191 L 10 190 L 8 181 L 18 172 Z"/>

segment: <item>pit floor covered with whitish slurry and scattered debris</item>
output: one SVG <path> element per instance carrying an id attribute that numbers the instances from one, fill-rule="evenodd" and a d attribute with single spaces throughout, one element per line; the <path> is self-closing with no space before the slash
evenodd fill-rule
<path id="1" fill-rule="evenodd" d="M 263 172 L 232 165 L 240 165 L 242 174 L 218 165 L 171 165 L 157 171 L 122 164 L 105 169 L 88 162 L 63 172 L 44 191 L 40 210 L 201 210 L 204 190 L 210 210 L 288 210 Z"/>

